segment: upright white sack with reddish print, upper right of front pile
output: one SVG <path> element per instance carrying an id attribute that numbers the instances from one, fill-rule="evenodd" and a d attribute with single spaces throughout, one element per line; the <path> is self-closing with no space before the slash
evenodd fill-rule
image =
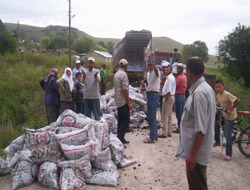
<path id="1" fill-rule="evenodd" d="M 101 151 L 109 146 L 109 128 L 105 120 L 93 122 L 95 137 L 97 138 Z"/>

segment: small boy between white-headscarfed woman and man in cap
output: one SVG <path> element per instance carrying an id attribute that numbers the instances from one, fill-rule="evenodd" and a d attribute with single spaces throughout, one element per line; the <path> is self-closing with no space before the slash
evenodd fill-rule
<path id="1" fill-rule="evenodd" d="M 83 105 L 83 94 L 84 94 L 84 84 L 82 84 L 82 73 L 76 73 L 76 80 L 74 83 L 73 95 L 76 105 L 76 113 L 84 113 Z"/>

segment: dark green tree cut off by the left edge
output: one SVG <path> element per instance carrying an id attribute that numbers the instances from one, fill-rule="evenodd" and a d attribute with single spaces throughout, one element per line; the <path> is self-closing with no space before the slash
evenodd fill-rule
<path id="1" fill-rule="evenodd" d="M 6 29 L 0 19 L 0 54 L 6 52 L 14 53 L 16 51 L 16 41 Z"/>

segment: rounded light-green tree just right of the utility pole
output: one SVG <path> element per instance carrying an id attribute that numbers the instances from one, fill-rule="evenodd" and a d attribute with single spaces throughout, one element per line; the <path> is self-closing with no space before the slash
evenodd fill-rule
<path id="1" fill-rule="evenodd" d="M 74 41 L 73 48 L 78 53 L 88 53 L 94 49 L 96 41 L 91 36 L 83 36 Z"/>

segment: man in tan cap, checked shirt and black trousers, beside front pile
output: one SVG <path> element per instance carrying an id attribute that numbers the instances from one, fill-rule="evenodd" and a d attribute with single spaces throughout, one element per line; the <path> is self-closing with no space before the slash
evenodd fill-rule
<path id="1" fill-rule="evenodd" d="M 118 108 L 117 137 L 123 144 L 128 144 L 129 141 L 126 141 L 124 138 L 130 121 L 129 110 L 132 110 L 132 104 L 129 99 L 129 81 L 126 73 L 128 61 L 121 59 L 119 66 L 120 68 L 114 76 L 115 104 Z"/>

